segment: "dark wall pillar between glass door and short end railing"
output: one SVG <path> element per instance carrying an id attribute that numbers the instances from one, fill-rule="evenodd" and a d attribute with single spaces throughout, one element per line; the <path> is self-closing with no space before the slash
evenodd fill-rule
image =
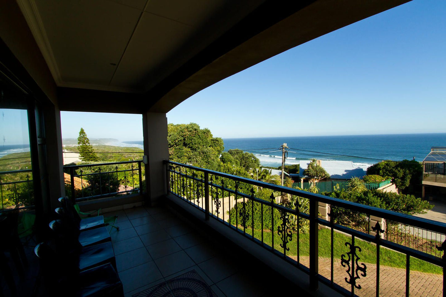
<path id="1" fill-rule="evenodd" d="M 54 209 L 60 206 L 59 197 L 65 196 L 60 110 L 54 106 L 45 106 L 44 117 L 47 156 L 46 170 L 49 181 L 48 194 L 51 209 Z"/>

